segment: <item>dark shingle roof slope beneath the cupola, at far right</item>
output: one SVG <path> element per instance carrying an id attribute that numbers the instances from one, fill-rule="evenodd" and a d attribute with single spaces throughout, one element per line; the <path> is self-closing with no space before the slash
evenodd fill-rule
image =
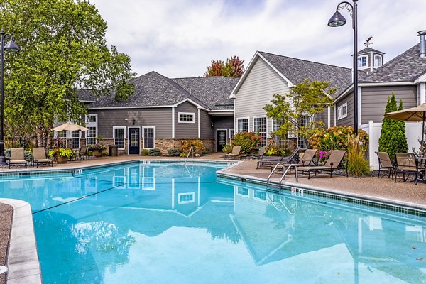
<path id="1" fill-rule="evenodd" d="M 378 67 L 359 82 L 413 82 L 426 72 L 426 58 L 420 58 L 420 43 Z"/>

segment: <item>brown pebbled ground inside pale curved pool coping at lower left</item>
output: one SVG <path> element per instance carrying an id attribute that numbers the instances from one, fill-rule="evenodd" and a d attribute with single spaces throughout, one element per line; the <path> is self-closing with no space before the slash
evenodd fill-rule
<path id="1" fill-rule="evenodd" d="M 13 207 L 0 203 L 0 266 L 6 266 L 7 249 L 11 235 Z M 0 274 L 0 284 L 6 283 L 6 274 Z"/>

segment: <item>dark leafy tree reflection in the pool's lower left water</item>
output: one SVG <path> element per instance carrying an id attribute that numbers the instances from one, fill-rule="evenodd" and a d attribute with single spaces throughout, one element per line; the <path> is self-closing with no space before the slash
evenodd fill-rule
<path id="1" fill-rule="evenodd" d="M 114 225 L 81 225 L 57 212 L 33 217 L 44 283 L 102 283 L 106 268 L 115 271 L 129 261 L 133 236 Z"/>

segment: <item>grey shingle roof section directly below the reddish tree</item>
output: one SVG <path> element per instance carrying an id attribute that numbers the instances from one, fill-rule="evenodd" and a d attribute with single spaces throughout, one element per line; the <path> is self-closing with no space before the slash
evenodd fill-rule
<path id="1" fill-rule="evenodd" d="M 234 102 L 229 99 L 239 78 L 227 77 L 192 77 L 172 79 L 212 110 L 233 110 Z"/>

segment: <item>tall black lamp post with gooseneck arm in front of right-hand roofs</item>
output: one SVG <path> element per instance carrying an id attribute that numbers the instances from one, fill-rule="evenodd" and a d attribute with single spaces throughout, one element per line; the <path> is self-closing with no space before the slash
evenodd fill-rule
<path id="1" fill-rule="evenodd" d="M 340 9 L 346 8 L 352 18 L 352 28 L 354 29 L 354 133 L 358 134 L 358 27 L 356 9 L 358 0 L 353 0 L 354 5 L 343 1 L 337 5 L 336 12 L 329 19 L 328 26 L 337 27 L 343 26 L 346 19 L 339 13 Z"/>

